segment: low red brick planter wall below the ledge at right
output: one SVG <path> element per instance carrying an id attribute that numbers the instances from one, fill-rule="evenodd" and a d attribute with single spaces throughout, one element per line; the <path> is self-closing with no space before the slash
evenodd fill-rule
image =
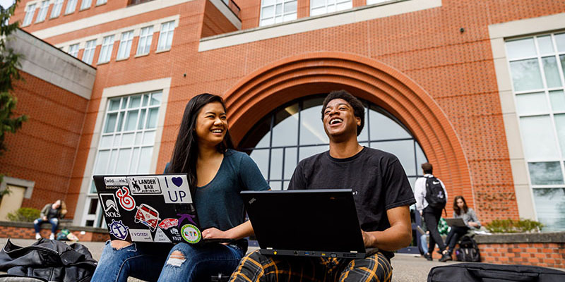
<path id="1" fill-rule="evenodd" d="M 565 266 L 564 243 L 481 244 L 479 250 L 481 262 L 559 268 Z"/>

